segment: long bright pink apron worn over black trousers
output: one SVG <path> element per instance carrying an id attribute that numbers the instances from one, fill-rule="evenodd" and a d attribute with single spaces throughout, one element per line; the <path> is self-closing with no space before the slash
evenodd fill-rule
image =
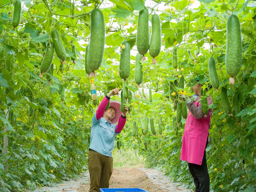
<path id="1" fill-rule="evenodd" d="M 197 102 L 199 98 L 200 97 L 198 97 L 194 102 L 196 107 L 200 104 L 200 101 Z M 212 99 L 209 97 L 208 105 L 211 103 Z M 186 120 L 182 137 L 180 160 L 202 165 L 208 130 L 210 127 L 211 113 L 212 110 L 210 109 L 207 117 L 196 119 L 188 110 L 188 118 Z"/>

